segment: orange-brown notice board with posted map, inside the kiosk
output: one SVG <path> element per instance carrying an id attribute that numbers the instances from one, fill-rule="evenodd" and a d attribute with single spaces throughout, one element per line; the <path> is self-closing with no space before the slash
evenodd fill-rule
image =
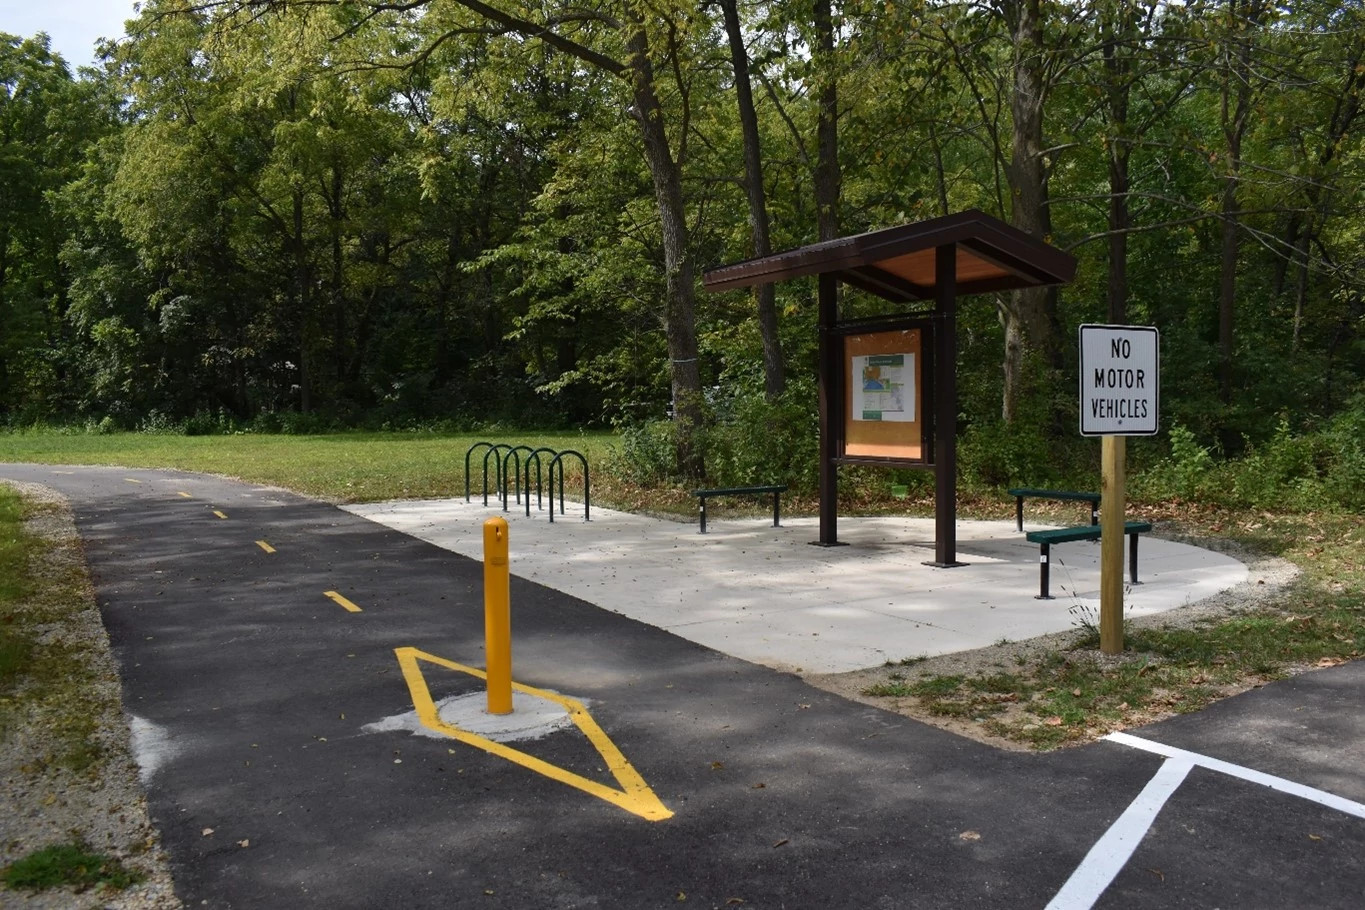
<path id="1" fill-rule="evenodd" d="M 845 457 L 924 463 L 924 330 L 844 337 Z"/>

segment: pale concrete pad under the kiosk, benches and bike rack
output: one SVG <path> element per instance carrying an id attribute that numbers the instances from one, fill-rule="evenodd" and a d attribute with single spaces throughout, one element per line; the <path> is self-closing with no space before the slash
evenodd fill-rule
<path id="1" fill-rule="evenodd" d="M 1052 600 L 1037 600 L 1039 548 L 1013 521 L 958 521 L 958 559 L 935 569 L 934 520 L 841 518 L 849 546 L 809 546 L 816 518 L 695 523 L 569 505 L 526 517 L 482 499 L 396 501 L 347 510 L 461 555 L 483 558 L 483 521 L 509 523 L 512 573 L 779 670 L 842 673 L 1065 632 L 1100 608 L 1099 542 L 1052 547 Z M 575 512 L 577 510 L 577 514 Z M 1043 525 L 1035 525 L 1043 527 Z M 1130 617 L 1174 610 L 1246 581 L 1224 554 L 1145 535 Z M 516 603 L 512 604 L 513 614 Z"/>

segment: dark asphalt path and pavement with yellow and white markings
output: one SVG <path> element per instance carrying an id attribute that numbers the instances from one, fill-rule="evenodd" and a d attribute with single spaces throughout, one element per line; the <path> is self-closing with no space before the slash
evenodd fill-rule
<path id="1" fill-rule="evenodd" d="M 1365 894 L 1365 738 L 1336 718 L 1355 666 L 1133 741 L 1005 753 L 513 577 L 520 694 L 568 722 L 498 741 L 456 711 L 482 686 L 479 562 L 278 490 L 66 471 L 0 465 L 74 505 L 187 906 Z"/>

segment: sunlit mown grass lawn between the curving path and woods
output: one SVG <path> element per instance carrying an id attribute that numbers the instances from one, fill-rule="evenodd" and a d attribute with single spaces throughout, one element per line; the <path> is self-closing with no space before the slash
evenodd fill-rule
<path id="1" fill-rule="evenodd" d="M 506 432 L 434 435 L 339 432 L 317 437 L 180 437 L 142 432 L 0 434 L 0 461 L 116 464 L 177 468 L 287 487 L 330 502 L 422 499 L 464 493 L 464 454 L 475 442 L 549 446 L 581 452 L 597 469 L 616 442 L 610 432 Z M 483 449 L 471 461 L 482 490 Z M 491 463 L 490 463 L 491 465 Z M 490 468 L 491 469 L 491 468 Z M 568 476 L 576 475 L 569 467 Z M 594 486 L 598 478 L 592 478 Z M 565 488 L 568 493 L 568 487 Z"/>

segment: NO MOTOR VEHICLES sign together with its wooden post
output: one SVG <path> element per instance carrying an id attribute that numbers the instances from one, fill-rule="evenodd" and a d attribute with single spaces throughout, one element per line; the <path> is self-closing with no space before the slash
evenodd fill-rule
<path id="1" fill-rule="evenodd" d="M 1151 326 L 1081 326 L 1081 435 L 1100 442 L 1100 651 L 1123 651 L 1125 437 L 1158 430 L 1160 338 Z"/>

